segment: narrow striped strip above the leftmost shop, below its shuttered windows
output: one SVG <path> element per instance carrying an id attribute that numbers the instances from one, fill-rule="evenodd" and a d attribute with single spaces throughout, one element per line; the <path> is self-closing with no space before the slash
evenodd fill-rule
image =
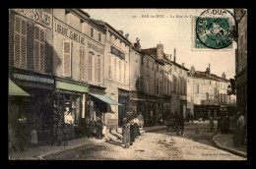
<path id="1" fill-rule="evenodd" d="M 13 77 L 17 80 L 29 81 L 33 83 L 54 84 L 53 79 L 42 78 L 42 77 L 37 77 L 32 75 L 13 73 Z"/>

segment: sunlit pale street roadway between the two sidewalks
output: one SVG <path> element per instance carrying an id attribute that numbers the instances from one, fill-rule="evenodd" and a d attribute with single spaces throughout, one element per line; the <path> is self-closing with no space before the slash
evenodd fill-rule
<path id="1" fill-rule="evenodd" d="M 194 124 L 197 126 L 198 124 Z M 246 158 L 218 149 L 207 141 L 203 143 L 189 139 L 193 125 L 187 125 L 185 135 L 177 137 L 166 130 L 144 133 L 129 148 L 124 148 L 121 140 L 108 141 L 100 144 L 88 144 L 72 150 L 66 150 L 44 156 L 53 160 L 245 160 Z M 207 123 L 199 125 L 202 129 Z M 206 138 L 206 132 L 201 138 Z M 199 133 L 200 135 L 200 133 Z M 209 137 L 211 137 L 213 133 Z M 196 137 L 194 137 L 196 138 Z M 197 137 L 200 138 L 200 137 Z M 203 140 L 203 139 L 202 139 Z M 207 143 L 205 143 L 207 142 Z"/>

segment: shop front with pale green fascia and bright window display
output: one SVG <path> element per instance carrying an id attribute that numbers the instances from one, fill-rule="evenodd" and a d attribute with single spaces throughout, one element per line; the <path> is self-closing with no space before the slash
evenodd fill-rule
<path id="1" fill-rule="evenodd" d="M 69 139 L 87 134 L 86 100 L 89 87 L 74 82 L 56 80 L 54 98 L 54 133 L 68 127 Z"/>

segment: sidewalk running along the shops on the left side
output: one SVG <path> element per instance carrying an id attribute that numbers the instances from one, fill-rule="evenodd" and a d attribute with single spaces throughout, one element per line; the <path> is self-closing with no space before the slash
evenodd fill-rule
<path id="1" fill-rule="evenodd" d="M 141 134 L 149 131 L 159 130 L 162 128 L 166 128 L 165 126 L 153 126 L 153 127 L 145 127 Z M 63 150 L 73 149 L 79 146 L 88 145 L 88 144 L 100 144 L 104 141 L 116 141 L 122 139 L 122 128 L 118 128 L 117 133 L 115 130 L 112 130 L 112 133 L 106 133 L 105 137 L 102 140 L 97 139 L 88 139 L 87 137 L 81 139 L 75 139 L 69 141 L 67 146 L 57 146 L 57 145 L 40 145 L 37 148 L 29 148 L 28 150 L 21 152 L 14 152 L 9 154 L 10 160 L 38 160 L 42 159 L 43 156 L 60 152 Z M 62 142 L 63 144 L 63 142 Z"/>

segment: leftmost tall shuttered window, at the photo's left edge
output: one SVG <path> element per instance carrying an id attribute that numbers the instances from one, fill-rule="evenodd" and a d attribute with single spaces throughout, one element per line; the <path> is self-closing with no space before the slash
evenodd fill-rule
<path id="1" fill-rule="evenodd" d="M 27 68 L 27 21 L 20 16 L 14 21 L 14 65 Z"/>

